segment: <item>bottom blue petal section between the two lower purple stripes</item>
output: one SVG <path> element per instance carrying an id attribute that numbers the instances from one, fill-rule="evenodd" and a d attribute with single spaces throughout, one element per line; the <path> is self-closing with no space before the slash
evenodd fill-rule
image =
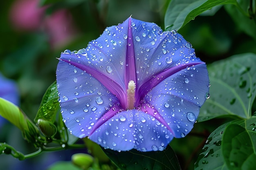
<path id="1" fill-rule="evenodd" d="M 106 121 L 89 139 L 112 150 L 135 148 L 145 152 L 164 150 L 173 136 L 154 116 L 133 109 Z"/>

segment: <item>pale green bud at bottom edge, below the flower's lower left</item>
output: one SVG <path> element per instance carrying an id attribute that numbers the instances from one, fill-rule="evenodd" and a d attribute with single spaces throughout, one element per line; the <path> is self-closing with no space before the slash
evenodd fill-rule
<path id="1" fill-rule="evenodd" d="M 77 153 L 71 157 L 72 163 L 83 170 L 87 170 L 93 163 L 93 157 L 85 153 Z"/>

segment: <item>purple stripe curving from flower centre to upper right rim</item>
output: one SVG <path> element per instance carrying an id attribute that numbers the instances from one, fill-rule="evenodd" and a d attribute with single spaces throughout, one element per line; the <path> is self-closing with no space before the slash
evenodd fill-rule
<path id="1" fill-rule="evenodd" d="M 164 71 L 161 71 L 155 75 L 153 75 L 150 79 L 148 79 L 146 82 L 141 84 L 137 89 L 138 93 L 135 93 L 135 106 L 138 106 L 141 102 L 141 100 L 145 97 L 145 95 L 152 90 L 157 84 L 162 82 L 167 77 L 187 68 L 190 66 L 195 66 L 198 64 L 205 64 L 204 62 L 191 62 L 188 64 L 178 65 L 172 68 L 167 68 Z"/>

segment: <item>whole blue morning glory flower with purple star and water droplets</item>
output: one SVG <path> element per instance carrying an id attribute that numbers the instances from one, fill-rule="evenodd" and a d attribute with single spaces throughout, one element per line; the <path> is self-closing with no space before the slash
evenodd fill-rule
<path id="1" fill-rule="evenodd" d="M 56 77 L 70 133 L 118 151 L 164 150 L 191 131 L 209 96 L 192 45 L 131 17 L 85 49 L 61 53 Z"/>

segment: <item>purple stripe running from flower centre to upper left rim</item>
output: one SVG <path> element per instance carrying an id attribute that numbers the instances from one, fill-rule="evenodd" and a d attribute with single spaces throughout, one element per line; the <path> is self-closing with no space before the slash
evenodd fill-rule
<path id="1" fill-rule="evenodd" d="M 62 54 L 62 55 L 69 55 L 70 54 Z M 75 55 L 76 56 L 76 55 Z M 86 71 L 86 73 L 91 74 L 92 77 L 96 78 L 101 84 L 103 84 L 113 95 L 117 97 L 119 100 L 121 106 L 126 106 L 126 99 L 124 99 L 124 96 L 126 95 L 126 91 L 115 81 L 107 77 L 106 75 L 100 73 L 99 71 L 90 68 L 89 66 L 85 66 L 83 64 L 65 60 L 65 59 L 59 59 L 63 62 L 67 62 L 69 64 L 72 64 L 73 66 L 76 66 L 77 68 Z"/>

